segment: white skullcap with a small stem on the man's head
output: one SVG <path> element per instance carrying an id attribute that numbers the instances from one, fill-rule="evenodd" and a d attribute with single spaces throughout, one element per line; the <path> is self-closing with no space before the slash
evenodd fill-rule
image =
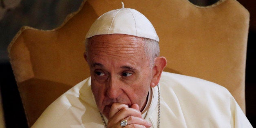
<path id="1" fill-rule="evenodd" d="M 139 11 L 124 8 L 124 4 L 121 9 L 108 11 L 100 16 L 90 27 L 86 38 L 107 34 L 134 35 L 159 42 L 151 22 Z"/>

